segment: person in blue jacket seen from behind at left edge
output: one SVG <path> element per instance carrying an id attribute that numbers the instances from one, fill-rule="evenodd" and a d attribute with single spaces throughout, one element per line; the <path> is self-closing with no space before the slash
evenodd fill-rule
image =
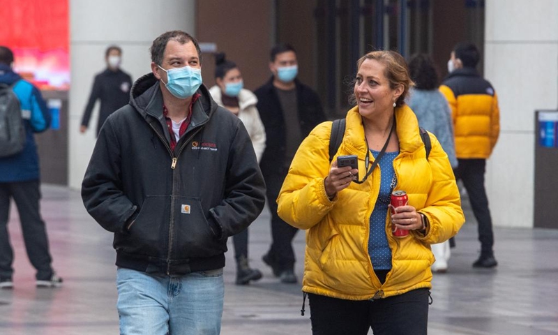
<path id="1" fill-rule="evenodd" d="M 0 84 L 8 85 L 22 110 L 25 144 L 22 151 L 0 158 L 0 288 L 13 288 L 13 249 L 8 235 L 10 199 L 20 214 L 25 249 L 36 269 L 38 288 L 59 287 L 62 278 L 52 269 L 45 221 L 40 216 L 39 157 L 33 133 L 46 131 L 50 112 L 40 91 L 14 72 L 13 52 L 0 46 Z"/>

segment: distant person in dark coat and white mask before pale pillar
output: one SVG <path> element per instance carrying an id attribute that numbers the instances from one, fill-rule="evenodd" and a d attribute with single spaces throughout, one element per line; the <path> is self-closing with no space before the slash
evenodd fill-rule
<path id="1" fill-rule="evenodd" d="M 97 136 L 100 127 L 107 117 L 130 101 L 132 78 L 120 68 L 122 63 L 122 49 L 116 45 L 107 47 L 105 51 L 107 68 L 95 76 L 89 101 L 85 107 L 80 133 L 85 133 L 89 127 L 89 119 L 95 103 L 100 100 L 99 118 L 97 122 Z"/>

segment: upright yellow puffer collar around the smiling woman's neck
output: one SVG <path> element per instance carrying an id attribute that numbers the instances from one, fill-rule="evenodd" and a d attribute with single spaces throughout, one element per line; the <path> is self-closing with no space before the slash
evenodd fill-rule
<path id="1" fill-rule="evenodd" d="M 366 155 L 366 142 L 364 139 L 364 127 L 359 107 L 353 107 L 347 112 L 347 125 L 345 128 L 345 139 L 343 140 L 347 151 L 364 159 Z M 397 124 L 397 135 L 399 137 L 400 154 L 409 154 L 421 148 L 423 142 L 418 130 L 418 120 L 414 112 L 407 105 L 395 108 L 395 121 Z"/>

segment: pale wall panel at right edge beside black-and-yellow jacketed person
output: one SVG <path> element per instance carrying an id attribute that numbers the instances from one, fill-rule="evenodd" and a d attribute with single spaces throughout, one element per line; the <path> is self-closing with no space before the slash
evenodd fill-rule
<path id="1" fill-rule="evenodd" d="M 485 3 L 485 77 L 501 111 L 486 173 L 490 210 L 495 225 L 532 227 L 534 110 L 558 107 L 558 1 Z"/>

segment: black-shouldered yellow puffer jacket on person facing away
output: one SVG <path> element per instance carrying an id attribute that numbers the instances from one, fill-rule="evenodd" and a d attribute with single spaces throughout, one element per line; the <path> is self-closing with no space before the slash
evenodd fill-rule
<path id="1" fill-rule="evenodd" d="M 489 158 L 500 133 L 498 96 L 474 68 L 454 70 L 439 91 L 451 107 L 455 156 Z"/>

